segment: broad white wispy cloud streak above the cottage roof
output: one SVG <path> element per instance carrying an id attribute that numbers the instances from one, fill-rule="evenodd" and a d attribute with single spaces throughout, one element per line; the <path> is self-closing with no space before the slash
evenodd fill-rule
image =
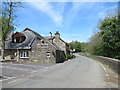
<path id="1" fill-rule="evenodd" d="M 62 15 L 59 13 L 59 11 L 55 11 L 49 2 L 33 2 L 29 4 L 47 14 L 58 26 L 62 24 Z"/>

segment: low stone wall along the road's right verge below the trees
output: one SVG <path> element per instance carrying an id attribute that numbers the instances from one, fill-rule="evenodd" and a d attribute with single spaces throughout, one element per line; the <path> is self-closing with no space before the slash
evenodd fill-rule
<path id="1" fill-rule="evenodd" d="M 120 74 L 120 60 L 108 58 L 108 57 L 103 57 L 103 56 L 91 56 L 91 55 L 89 55 L 88 57 L 91 57 L 95 60 L 98 60 L 98 61 L 108 65 L 109 68 L 113 69 L 115 72 Z"/>

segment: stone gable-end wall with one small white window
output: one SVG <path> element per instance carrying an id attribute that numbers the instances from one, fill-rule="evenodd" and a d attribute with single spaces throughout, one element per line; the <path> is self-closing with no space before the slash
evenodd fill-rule
<path id="1" fill-rule="evenodd" d="M 39 41 L 31 49 L 30 60 L 40 63 L 56 63 L 56 50 L 49 42 L 44 40 L 44 43 L 42 43 Z"/>

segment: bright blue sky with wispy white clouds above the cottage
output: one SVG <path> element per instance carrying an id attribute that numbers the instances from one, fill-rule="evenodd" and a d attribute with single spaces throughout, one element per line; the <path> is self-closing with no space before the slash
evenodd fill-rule
<path id="1" fill-rule="evenodd" d="M 116 10 L 117 2 L 23 2 L 23 6 L 16 12 L 16 31 L 28 27 L 43 36 L 59 31 L 67 42 L 88 42 L 100 19 Z"/>

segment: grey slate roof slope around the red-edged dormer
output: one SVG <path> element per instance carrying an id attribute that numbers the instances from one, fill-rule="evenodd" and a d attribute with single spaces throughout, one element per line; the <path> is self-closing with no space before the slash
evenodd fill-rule
<path id="1" fill-rule="evenodd" d="M 38 43 L 43 37 L 36 32 L 26 28 L 20 32 L 26 36 L 23 43 L 12 43 L 12 38 L 5 42 L 5 49 L 30 49 L 33 45 Z"/>

